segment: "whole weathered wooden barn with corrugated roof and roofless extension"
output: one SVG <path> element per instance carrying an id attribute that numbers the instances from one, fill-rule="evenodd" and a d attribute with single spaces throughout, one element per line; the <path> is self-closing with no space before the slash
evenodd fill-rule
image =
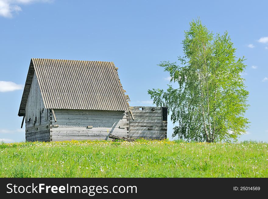
<path id="1" fill-rule="evenodd" d="M 167 138 L 165 107 L 130 107 L 113 62 L 31 59 L 19 106 L 26 141 Z"/>

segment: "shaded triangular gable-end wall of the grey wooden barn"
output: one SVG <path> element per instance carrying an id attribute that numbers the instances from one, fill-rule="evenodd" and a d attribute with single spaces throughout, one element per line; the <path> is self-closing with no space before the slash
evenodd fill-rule
<path id="1" fill-rule="evenodd" d="M 26 141 L 50 141 L 49 110 L 44 108 L 41 91 L 34 72 L 29 97 L 25 108 Z"/>

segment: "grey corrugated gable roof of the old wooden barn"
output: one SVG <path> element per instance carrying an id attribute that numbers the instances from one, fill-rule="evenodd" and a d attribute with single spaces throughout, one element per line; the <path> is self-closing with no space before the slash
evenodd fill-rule
<path id="1" fill-rule="evenodd" d="M 34 72 L 46 108 L 129 110 L 117 69 L 106 61 L 32 58 L 18 115 L 25 114 Z"/>

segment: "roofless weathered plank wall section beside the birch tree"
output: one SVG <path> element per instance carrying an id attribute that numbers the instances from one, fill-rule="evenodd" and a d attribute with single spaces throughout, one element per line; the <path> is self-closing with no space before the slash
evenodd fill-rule
<path id="1" fill-rule="evenodd" d="M 152 109 L 155 110 L 152 110 Z M 141 109 L 141 110 L 140 110 Z M 134 106 L 130 107 L 134 120 L 129 118 L 129 136 L 133 139 L 164 139 L 167 138 L 167 121 L 163 121 L 161 107 Z"/>

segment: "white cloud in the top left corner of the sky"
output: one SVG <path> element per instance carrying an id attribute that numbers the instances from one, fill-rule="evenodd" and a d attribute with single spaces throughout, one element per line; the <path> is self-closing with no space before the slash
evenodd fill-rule
<path id="1" fill-rule="evenodd" d="M 14 12 L 22 11 L 19 5 L 51 1 L 52 0 L 0 0 L 0 16 L 11 18 Z"/>

